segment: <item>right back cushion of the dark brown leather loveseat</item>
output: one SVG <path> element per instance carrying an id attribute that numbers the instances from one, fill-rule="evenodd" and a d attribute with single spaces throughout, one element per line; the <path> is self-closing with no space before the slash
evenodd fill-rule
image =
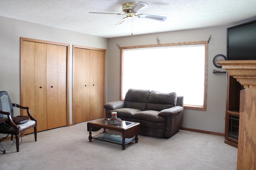
<path id="1" fill-rule="evenodd" d="M 177 94 L 172 93 L 160 93 L 158 91 L 151 91 L 148 96 L 148 103 L 146 110 L 162 111 L 170 107 L 176 106 Z"/>

